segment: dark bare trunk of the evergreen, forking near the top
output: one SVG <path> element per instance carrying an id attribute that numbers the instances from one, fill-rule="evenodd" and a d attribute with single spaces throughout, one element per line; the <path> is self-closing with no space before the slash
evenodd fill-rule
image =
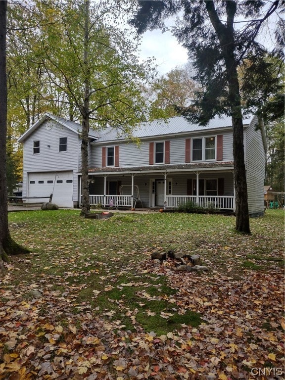
<path id="1" fill-rule="evenodd" d="M 233 124 L 233 156 L 234 178 L 236 190 L 236 230 L 250 234 L 249 214 L 247 203 L 246 170 L 244 162 L 243 125 L 241 113 L 240 91 L 238 84 L 237 61 L 235 57 L 234 18 L 237 3 L 232 0 L 226 2 L 227 23 L 224 25 L 216 12 L 214 1 L 206 1 L 211 23 L 220 41 L 223 53 L 229 86 L 229 102 Z"/>

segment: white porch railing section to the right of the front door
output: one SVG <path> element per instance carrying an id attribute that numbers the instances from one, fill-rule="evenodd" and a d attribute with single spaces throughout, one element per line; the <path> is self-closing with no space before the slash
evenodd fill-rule
<path id="1" fill-rule="evenodd" d="M 197 203 L 195 195 L 166 195 L 167 207 L 179 207 L 186 202 Z M 209 196 L 198 197 L 198 205 L 201 207 L 213 207 L 220 210 L 234 210 L 234 196 Z"/>

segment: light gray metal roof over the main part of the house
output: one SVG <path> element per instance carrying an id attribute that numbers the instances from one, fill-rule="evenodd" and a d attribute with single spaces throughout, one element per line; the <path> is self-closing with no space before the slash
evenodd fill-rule
<path id="1" fill-rule="evenodd" d="M 243 124 L 247 125 L 252 119 L 252 115 L 243 118 Z M 232 127 L 231 117 L 219 118 L 216 116 L 208 125 L 201 126 L 191 124 L 184 116 L 174 116 L 168 119 L 156 119 L 138 124 L 138 127 L 133 131 L 133 136 L 137 138 L 147 138 L 164 135 L 177 135 L 188 132 L 203 131 L 207 129 L 217 129 Z M 115 129 L 108 129 L 100 132 L 101 137 L 96 142 L 107 142 L 114 140 L 124 140 L 124 136 L 119 136 Z"/>

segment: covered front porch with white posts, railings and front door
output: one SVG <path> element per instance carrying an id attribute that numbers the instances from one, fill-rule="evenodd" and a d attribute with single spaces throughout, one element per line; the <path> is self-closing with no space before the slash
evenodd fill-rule
<path id="1" fill-rule="evenodd" d="M 191 201 L 201 207 L 236 211 L 233 168 L 229 165 L 164 169 L 120 168 L 108 173 L 95 169 L 89 175 L 90 205 L 175 209 Z"/>

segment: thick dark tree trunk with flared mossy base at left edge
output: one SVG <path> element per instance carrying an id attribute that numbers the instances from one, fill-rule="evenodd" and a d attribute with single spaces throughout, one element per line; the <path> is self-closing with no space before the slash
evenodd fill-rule
<path id="1" fill-rule="evenodd" d="M 0 269 L 8 255 L 28 253 L 10 236 L 7 211 L 6 134 L 7 134 L 7 75 L 6 75 L 7 2 L 0 1 Z"/>

